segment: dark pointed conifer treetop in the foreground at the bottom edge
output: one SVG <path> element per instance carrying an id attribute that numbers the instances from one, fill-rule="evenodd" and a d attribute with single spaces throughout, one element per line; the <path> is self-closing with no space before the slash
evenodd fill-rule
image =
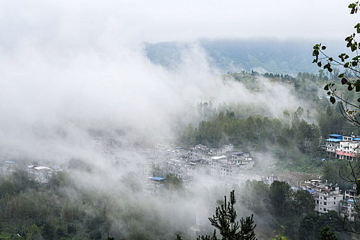
<path id="1" fill-rule="evenodd" d="M 218 206 L 215 210 L 215 215 L 209 217 L 211 225 L 217 228 L 220 232 L 222 240 L 255 240 L 255 232 L 253 215 L 243 219 L 241 217 L 240 224 L 237 219 L 237 212 L 235 211 L 235 195 L 234 190 L 230 192 L 230 202 L 227 202 L 226 196 L 224 196 L 224 204 Z M 200 236 L 197 240 L 218 240 L 216 237 L 216 230 L 214 230 L 213 236 Z"/>

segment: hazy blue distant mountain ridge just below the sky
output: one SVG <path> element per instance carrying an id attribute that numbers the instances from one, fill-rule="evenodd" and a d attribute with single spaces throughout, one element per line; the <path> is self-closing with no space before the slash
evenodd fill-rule
<path id="1" fill-rule="evenodd" d="M 254 70 L 291 75 L 319 71 L 312 63 L 315 43 L 319 41 L 202 39 L 197 42 L 211 58 L 213 67 L 217 67 L 221 73 Z M 344 44 L 339 42 L 324 44 L 332 56 L 338 56 L 345 49 Z M 191 45 L 185 42 L 145 43 L 144 50 L 152 62 L 171 67 L 180 62 L 181 52 L 190 49 Z"/>

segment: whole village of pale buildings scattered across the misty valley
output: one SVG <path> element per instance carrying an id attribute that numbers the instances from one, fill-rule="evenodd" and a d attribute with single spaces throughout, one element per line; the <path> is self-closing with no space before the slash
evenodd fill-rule
<path id="1" fill-rule="evenodd" d="M 224 145 L 219 149 L 212 149 L 206 145 L 195 145 L 189 149 L 184 147 L 171 147 L 160 144 L 155 149 L 127 149 L 117 151 L 116 144 L 95 141 L 96 148 L 104 154 L 112 156 L 115 164 L 131 163 L 134 156 L 141 156 L 147 163 L 142 164 L 139 171 L 143 173 L 147 193 L 158 193 L 165 189 L 164 182 L 167 176 L 178 178 L 184 187 L 191 187 L 199 176 L 211 176 L 214 181 L 245 184 L 246 180 L 263 181 L 272 184 L 275 180 L 287 182 L 293 191 L 309 191 L 315 202 L 315 211 L 320 215 L 328 211 L 336 211 L 350 221 L 356 218 L 357 189 L 356 184 L 352 189 L 341 191 L 337 184 L 322 182 L 320 177 L 301 175 L 287 176 L 286 174 L 265 175 L 251 171 L 259 160 L 255 160 L 247 152 L 234 149 L 233 145 Z M 357 136 L 342 136 L 330 134 L 325 140 L 322 150 L 329 156 L 344 160 L 357 160 L 359 156 L 360 138 Z M 12 160 L 5 160 L 2 165 L 3 175 L 25 173 L 28 178 L 38 184 L 48 184 L 51 176 L 67 167 L 60 165 L 21 165 Z"/>

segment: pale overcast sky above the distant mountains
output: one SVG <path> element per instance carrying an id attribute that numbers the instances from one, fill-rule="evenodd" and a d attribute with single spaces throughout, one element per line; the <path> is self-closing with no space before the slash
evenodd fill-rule
<path id="1" fill-rule="evenodd" d="M 0 1 L 0 40 L 91 43 L 108 34 L 129 41 L 196 38 L 343 39 L 359 15 L 343 0 Z M 84 44 L 86 44 L 84 43 Z M 3 46 L 4 47 L 4 46 Z"/>

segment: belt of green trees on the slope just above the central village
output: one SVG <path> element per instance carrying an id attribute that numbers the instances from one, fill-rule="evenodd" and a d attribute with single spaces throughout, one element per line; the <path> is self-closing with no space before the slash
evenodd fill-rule
<path id="1" fill-rule="evenodd" d="M 320 131 L 315 124 L 302 119 L 302 111 L 298 108 L 293 112 L 290 124 L 261 115 L 237 118 L 230 110 L 221 111 L 213 120 L 201 121 L 198 128 L 189 127 L 180 141 L 186 144 L 189 139 L 194 139 L 192 143 L 209 147 L 232 143 L 259 150 L 265 150 L 270 145 L 286 151 L 286 156 L 293 156 L 291 149 L 315 154 L 320 144 Z"/>

